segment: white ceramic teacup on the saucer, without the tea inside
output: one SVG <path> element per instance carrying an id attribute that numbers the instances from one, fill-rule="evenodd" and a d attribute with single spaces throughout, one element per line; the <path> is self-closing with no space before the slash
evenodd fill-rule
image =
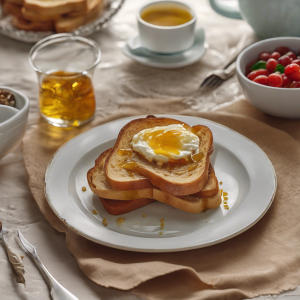
<path id="1" fill-rule="evenodd" d="M 141 18 L 145 10 L 170 6 L 189 12 L 192 19 L 181 25 L 159 26 Z M 172 0 L 148 3 L 138 10 L 137 20 L 141 44 L 152 52 L 163 54 L 182 52 L 194 44 L 197 16 L 195 11 L 185 3 Z"/>

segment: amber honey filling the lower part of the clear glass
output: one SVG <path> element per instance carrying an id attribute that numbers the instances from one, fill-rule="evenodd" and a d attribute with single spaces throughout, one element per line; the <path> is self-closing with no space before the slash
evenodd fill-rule
<path id="1" fill-rule="evenodd" d="M 41 79 L 39 103 L 42 115 L 61 127 L 80 126 L 95 113 L 91 79 L 83 74 L 57 71 Z"/>

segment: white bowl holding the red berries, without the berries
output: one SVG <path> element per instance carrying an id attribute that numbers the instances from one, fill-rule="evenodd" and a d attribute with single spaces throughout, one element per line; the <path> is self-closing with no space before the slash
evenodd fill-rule
<path id="1" fill-rule="evenodd" d="M 247 47 L 237 58 L 237 76 L 246 98 L 254 107 L 272 116 L 297 119 L 300 118 L 300 89 L 265 86 L 245 76 L 246 65 L 257 59 L 260 52 L 273 52 L 279 46 L 287 46 L 298 53 L 300 38 L 272 38 Z"/>

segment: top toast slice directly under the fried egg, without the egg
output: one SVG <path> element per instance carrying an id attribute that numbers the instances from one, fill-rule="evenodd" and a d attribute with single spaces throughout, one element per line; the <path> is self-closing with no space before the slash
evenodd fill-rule
<path id="1" fill-rule="evenodd" d="M 196 134 L 199 139 L 199 151 L 203 153 L 203 158 L 195 168 L 190 164 L 164 164 L 159 166 L 150 163 L 140 154 L 133 152 L 130 156 L 121 156 L 119 150 L 131 149 L 130 143 L 135 134 L 147 128 L 156 126 L 167 126 L 171 124 L 181 124 L 187 130 Z M 117 138 L 113 150 L 109 153 L 105 162 L 105 174 L 109 185 L 114 190 L 140 190 L 151 188 L 155 185 L 159 189 L 177 196 L 184 196 L 197 193 L 202 190 L 208 179 L 208 169 L 210 165 L 210 154 L 213 149 L 213 136 L 209 128 L 202 125 L 190 127 L 184 122 L 148 116 L 147 118 L 136 119 L 125 125 Z M 131 173 L 120 166 L 130 164 Z"/>

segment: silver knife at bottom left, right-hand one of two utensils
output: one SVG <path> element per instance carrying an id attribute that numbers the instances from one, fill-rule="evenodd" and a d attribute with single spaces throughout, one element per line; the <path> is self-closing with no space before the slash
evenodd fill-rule
<path id="1" fill-rule="evenodd" d="M 37 266 L 41 270 L 47 284 L 50 287 L 50 295 L 53 300 L 79 300 L 72 293 L 70 293 L 66 288 L 64 288 L 54 277 L 49 273 L 46 267 L 41 262 L 37 255 L 36 249 L 24 238 L 20 230 L 18 229 L 19 239 L 24 246 L 24 248 L 31 254 L 32 258 L 36 262 Z"/>

